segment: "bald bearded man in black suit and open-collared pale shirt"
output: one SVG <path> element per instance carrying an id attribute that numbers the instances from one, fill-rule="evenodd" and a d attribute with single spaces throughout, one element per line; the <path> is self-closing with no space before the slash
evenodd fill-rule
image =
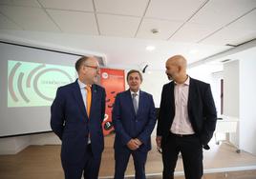
<path id="1" fill-rule="evenodd" d="M 181 152 L 186 179 L 203 176 L 203 148 L 209 149 L 217 114 L 210 85 L 186 74 L 186 60 L 175 55 L 166 61 L 172 82 L 161 92 L 157 145 L 162 149 L 163 179 L 173 179 Z"/>

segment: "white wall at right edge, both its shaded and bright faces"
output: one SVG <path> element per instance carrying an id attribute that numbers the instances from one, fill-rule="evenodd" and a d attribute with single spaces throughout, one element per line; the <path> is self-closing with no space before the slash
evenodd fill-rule
<path id="1" fill-rule="evenodd" d="M 224 115 L 237 117 L 237 133 L 230 141 L 256 155 L 256 61 L 254 55 L 224 64 Z"/>

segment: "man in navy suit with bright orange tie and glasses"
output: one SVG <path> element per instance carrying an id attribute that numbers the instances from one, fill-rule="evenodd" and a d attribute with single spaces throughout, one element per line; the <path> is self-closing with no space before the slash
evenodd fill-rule
<path id="1" fill-rule="evenodd" d="M 104 149 L 101 124 L 105 115 L 105 89 L 96 85 L 95 57 L 75 63 L 78 79 L 57 89 L 51 107 L 51 127 L 62 141 L 61 163 L 66 179 L 97 179 Z"/>

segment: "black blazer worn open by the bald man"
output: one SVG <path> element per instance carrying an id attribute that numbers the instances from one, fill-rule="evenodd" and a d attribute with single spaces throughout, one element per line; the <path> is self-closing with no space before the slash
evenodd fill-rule
<path id="1" fill-rule="evenodd" d="M 188 92 L 188 117 L 192 128 L 203 146 L 210 141 L 216 127 L 217 112 L 210 85 L 190 78 Z M 161 145 L 167 139 L 175 116 L 174 81 L 165 84 L 161 91 L 157 135 L 162 136 Z"/>

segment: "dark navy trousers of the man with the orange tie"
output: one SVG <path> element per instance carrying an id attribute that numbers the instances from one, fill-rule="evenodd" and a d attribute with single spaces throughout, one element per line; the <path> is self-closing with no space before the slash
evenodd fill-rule
<path id="1" fill-rule="evenodd" d="M 72 155 L 72 153 L 71 153 Z M 65 179 L 81 179 L 82 174 L 84 179 L 97 179 L 98 171 L 100 167 L 101 154 L 100 156 L 94 156 L 92 152 L 92 147 L 89 144 L 82 164 L 66 164 L 62 167 L 65 173 Z"/>

